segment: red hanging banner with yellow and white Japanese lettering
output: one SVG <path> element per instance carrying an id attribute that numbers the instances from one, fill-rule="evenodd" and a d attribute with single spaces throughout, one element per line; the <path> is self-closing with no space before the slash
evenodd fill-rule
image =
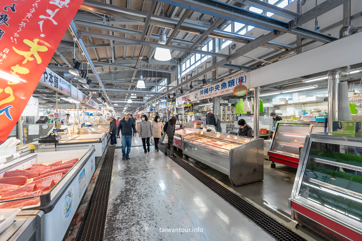
<path id="1" fill-rule="evenodd" d="M 18 121 L 82 3 L 0 1 L 0 142 Z"/>

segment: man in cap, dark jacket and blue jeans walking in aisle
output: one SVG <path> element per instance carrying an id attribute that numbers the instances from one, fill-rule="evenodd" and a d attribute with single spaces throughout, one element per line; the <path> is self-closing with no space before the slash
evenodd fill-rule
<path id="1" fill-rule="evenodd" d="M 134 131 L 134 136 L 137 135 L 136 124 L 130 119 L 130 112 L 125 112 L 123 114 L 125 117 L 119 121 L 117 128 L 117 136 L 119 138 L 119 131 L 121 130 L 122 134 L 122 160 L 130 159 L 130 151 L 132 144 L 132 130 Z M 127 152 L 126 152 L 127 147 Z"/>

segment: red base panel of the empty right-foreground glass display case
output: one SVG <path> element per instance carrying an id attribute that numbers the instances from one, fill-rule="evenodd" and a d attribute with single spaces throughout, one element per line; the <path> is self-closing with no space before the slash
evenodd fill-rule
<path id="1" fill-rule="evenodd" d="M 336 232 L 338 234 L 341 234 L 345 237 L 350 238 L 351 240 L 362 240 L 362 234 L 359 234 L 355 231 L 352 231 L 349 228 L 346 228 L 345 226 L 338 224 L 334 221 L 332 221 L 331 219 L 328 219 L 320 214 L 317 214 L 316 212 L 313 212 L 312 210 L 309 210 L 306 207 L 303 207 L 295 202 L 290 202 L 291 208 L 293 210 L 295 210 L 296 212 L 303 214 L 305 216 L 307 216 L 308 218 L 314 220 L 315 222 L 317 222 L 317 225 L 324 225 L 325 227 L 328 227 L 330 229 L 332 229 L 333 231 L 328 232 L 329 235 L 333 236 L 333 234 L 335 234 Z M 310 227 L 310 225 L 303 223 L 304 225 Z M 311 229 L 315 230 L 316 232 L 321 231 L 320 229 L 325 229 L 325 227 L 315 227 L 315 225 L 312 225 L 313 227 L 310 227 Z M 323 231 L 321 231 L 323 232 Z M 323 232 L 323 234 L 326 234 L 325 230 Z M 346 238 L 344 238 L 343 236 L 341 236 L 340 238 L 338 238 L 338 240 L 346 240 Z"/>

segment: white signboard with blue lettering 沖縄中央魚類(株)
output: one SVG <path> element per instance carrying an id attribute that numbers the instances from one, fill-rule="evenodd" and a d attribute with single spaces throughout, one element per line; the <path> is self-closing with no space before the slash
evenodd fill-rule
<path id="1" fill-rule="evenodd" d="M 244 73 L 241 76 L 235 76 L 233 78 L 224 80 L 222 82 L 216 83 L 211 86 L 207 86 L 205 88 L 199 89 L 197 91 L 193 91 L 187 95 L 182 95 L 177 97 L 177 104 L 183 104 L 186 99 L 190 99 L 191 102 L 195 102 L 196 100 L 203 100 L 212 98 L 215 96 L 221 95 L 230 95 L 232 94 L 235 86 L 237 85 L 245 85 L 249 89 L 250 81 L 249 81 L 249 73 Z"/>

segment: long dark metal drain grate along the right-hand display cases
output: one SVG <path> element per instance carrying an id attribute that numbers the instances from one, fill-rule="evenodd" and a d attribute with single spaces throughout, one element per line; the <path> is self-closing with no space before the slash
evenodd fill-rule
<path id="1" fill-rule="evenodd" d="M 159 149 L 164 151 L 164 148 L 159 145 Z M 169 154 L 169 151 L 167 151 Z M 258 208 L 251 205 L 249 202 L 245 201 L 243 198 L 239 197 L 232 191 L 228 190 L 215 180 L 212 180 L 210 177 L 194 168 L 189 163 L 185 162 L 179 157 L 172 158 L 174 162 L 188 171 L 191 175 L 196 177 L 199 181 L 205 184 L 208 188 L 222 197 L 226 202 L 230 203 L 233 207 L 239 210 L 242 214 L 247 216 L 250 220 L 256 223 L 259 227 L 264 229 L 265 232 L 269 233 L 275 239 L 280 241 L 306 241 L 303 237 L 300 237 L 297 233 L 293 232 L 291 229 L 285 227 L 283 224 L 279 223 L 277 220 L 271 218 L 264 212 L 260 211 Z"/>

